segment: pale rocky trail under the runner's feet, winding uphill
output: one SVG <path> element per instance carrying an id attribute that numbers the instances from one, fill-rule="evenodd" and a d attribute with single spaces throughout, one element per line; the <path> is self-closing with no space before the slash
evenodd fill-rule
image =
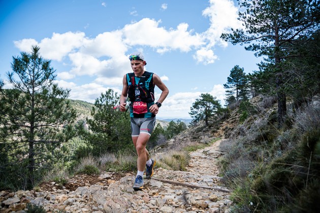
<path id="1" fill-rule="evenodd" d="M 44 183 L 39 192 L 0 192 L 0 212 L 24 212 L 26 203 L 47 212 L 228 212 L 230 191 L 219 186 L 220 141 L 190 153 L 187 171 L 155 168 L 144 189 L 134 191 L 134 173 L 76 175 L 60 187 Z"/>

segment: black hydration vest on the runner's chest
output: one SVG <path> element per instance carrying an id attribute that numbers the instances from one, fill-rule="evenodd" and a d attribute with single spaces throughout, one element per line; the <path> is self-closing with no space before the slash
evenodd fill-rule
<path id="1" fill-rule="evenodd" d="M 128 97 L 130 101 L 136 101 L 136 98 L 139 98 L 141 101 L 150 103 L 154 101 L 154 86 L 153 86 L 153 73 L 144 72 L 142 76 L 137 77 L 140 78 L 139 82 L 136 82 L 135 74 L 128 73 L 126 74 L 126 83 L 128 85 Z M 140 91 L 140 96 L 136 97 L 136 87 L 138 87 Z"/>

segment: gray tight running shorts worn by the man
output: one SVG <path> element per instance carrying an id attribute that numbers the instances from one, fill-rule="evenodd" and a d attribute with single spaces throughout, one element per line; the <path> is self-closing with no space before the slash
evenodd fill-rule
<path id="1" fill-rule="evenodd" d="M 130 118 L 131 121 L 131 136 L 139 136 L 140 133 L 151 135 L 155 117 L 153 118 Z"/>

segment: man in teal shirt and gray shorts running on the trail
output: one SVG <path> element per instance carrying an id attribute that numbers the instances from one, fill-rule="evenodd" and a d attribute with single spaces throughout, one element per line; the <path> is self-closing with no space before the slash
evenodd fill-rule
<path id="1" fill-rule="evenodd" d="M 138 172 L 133 188 L 141 190 L 143 189 L 144 168 L 146 167 L 145 178 L 150 178 L 153 175 L 155 160 L 149 157 L 146 145 L 155 125 L 155 115 L 166 99 L 169 90 L 157 75 L 144 70 L 147 63 L 141 52 L 132 53 L 129 59 L 133 73 L 123 76 L 119 108 L 121 112 L 126 111 L 126 98 L 129 97 L 131 136 L 138 154 Z M 154 86 L 162 91 L 155 103 Z"/>

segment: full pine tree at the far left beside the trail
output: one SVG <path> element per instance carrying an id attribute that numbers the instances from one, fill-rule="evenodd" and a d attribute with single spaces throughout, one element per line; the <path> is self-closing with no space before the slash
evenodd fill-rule
<path id="1" fill-rule="evenodd" d="M 76 111 L 66 100 L 70 90 L 54 83 L 55 70 L 39 50 L 33 46 L 30 53 L 13 57 L 13 71 L 8 72 L 12 89 L 4 89 L 4 81 L 0 82 L 0 140 L 4 145 L 0 152 L 6 156 L 0 159 L 0 179 L 11 178 L 22 189 L 31 189 L 40 178 L 36 174 L 58 160 L 61 143 L 83 129 L 81 124 L 74 128 Z"/>

